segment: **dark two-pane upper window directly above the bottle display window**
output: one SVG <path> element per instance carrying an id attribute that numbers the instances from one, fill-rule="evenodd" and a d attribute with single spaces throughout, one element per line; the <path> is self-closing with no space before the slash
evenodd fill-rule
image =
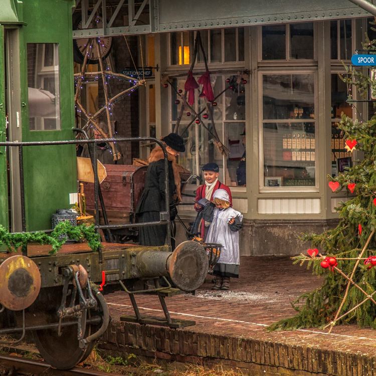
<path id="1" fill-rule="evenodd" d="M 314 25 L 270 25 L 261 28 L 261 60 L 313 60 Z"/>

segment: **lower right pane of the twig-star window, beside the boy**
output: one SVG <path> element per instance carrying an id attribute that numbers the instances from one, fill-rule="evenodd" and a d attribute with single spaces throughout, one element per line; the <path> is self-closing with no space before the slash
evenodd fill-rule
<path id="1" fill-rule="evenodd" d="M 227 159 L 226 184 L 229 186 L 246 185 L 246 135 L 245 123 L 226 123 L 227 147 L 230 150 Z"/>

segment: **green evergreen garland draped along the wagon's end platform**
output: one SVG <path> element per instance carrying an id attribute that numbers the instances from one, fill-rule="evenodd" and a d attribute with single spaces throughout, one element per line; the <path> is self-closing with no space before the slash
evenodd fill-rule
<path id="1" fill-rule="evenodd" d="M 58 223 L 51 234 L 42 231 L 34 233 L 10 233 L 3 226 L 0 226 L 0 245 L 4 244 L 7 246 L 9 252 L 16 252 L 20 247 L 26 250 L 28 243 L 35 242 L 50 244 L 52 246 L 50 255 L 54 255 L 67 239 L 75 241 L 86 239 L 93 251 L 98 251 L 101 248 L 100 235 L 95 232 L 94 225 L 73 226 L 69 221 L 64 221 Z"/>

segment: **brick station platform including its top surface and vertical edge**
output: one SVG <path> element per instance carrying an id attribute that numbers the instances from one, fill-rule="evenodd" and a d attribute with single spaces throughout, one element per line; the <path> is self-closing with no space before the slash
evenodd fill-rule
<path id="1" fill-rule="evenodd" d="M 171 317 L 195 320 L 184 329 L 119 322 L 132 314 L 125 293 L 106 296 L 113 322 L 107 348 L 124 346 L 141 355 L 207 364 L 240 366 L 252 374 L 376 375 L 376 338 L 372 329 L 336 326 L 268 332 L 266 326 L 294 314 L 290 302 L 319 286 L 320 279 L 284 257 L 243 257 L 241 278 L 230 292 L 212 292 L 210 278 L 196 296 L 166 298 Z M 162 316 L 155 296 L 136 296 L 141 314 Z"/>

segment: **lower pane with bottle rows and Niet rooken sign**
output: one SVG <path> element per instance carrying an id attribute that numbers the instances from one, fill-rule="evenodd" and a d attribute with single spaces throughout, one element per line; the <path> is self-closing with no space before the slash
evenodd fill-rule
<path id="1" fill-rule="evenodd" d="M 264 186 L 314 186 L 313 122 L 264 123 Z"/>

